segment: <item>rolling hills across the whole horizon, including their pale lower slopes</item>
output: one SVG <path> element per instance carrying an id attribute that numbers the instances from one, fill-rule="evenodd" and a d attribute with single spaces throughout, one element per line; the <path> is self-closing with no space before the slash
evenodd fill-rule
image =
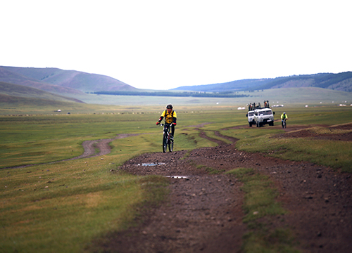
<path id="1" fill-rule="evenodd" d="M 172 91 L 145 91 L 111 77 L 75 70 L 0 67 L 0 104 L 17 104 L 18 107 L 58 102 L 62 106 L 62 103 L 77 104 L 82 101 L 101 105 L 159 104 L 164 98 L 191 104 L 210 103 L 210 100 L 211 103 L 235 101 L 239 104 L 261 100 L 279 100 L 280 103 L 320 103 L 331 100 L 330 103 L 343 103 L 350 100 L 351 91 L 352 72 L 243 79 L 220 84 L 181 86 Z"/>

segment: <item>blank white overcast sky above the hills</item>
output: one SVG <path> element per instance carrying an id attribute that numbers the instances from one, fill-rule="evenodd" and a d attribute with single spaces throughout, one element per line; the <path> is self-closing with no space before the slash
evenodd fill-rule
<path id="1" fill-rule="evenodd" d="M 350 0 L 0 2 L 0 65 L 139 89 L 352 71 Z"/>

